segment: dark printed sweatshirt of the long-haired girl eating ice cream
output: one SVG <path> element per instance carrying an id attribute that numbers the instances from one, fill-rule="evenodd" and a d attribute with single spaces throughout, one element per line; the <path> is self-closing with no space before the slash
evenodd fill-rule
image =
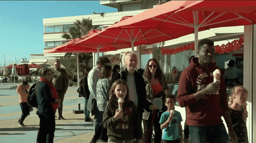
<path id="1" fill-rule="evenodd" d="M 103 113 L 102 124 L 107 128 L 108 138 L 115 138 L 117 140 L 131 140 L 133 135 L 137 135 L 137 139 L 142 139 L 141 119 L 138 110 L 132 101 L 125 101 L 123 103 L 123 117 L 115 120 L 116 110 L 118 109 L 118 102 L 108 102 Z"/>

